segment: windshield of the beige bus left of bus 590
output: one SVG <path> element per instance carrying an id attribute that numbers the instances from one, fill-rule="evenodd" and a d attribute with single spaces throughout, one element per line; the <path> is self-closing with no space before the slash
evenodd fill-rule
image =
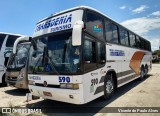
<path id="1" fill-rule="evenodd" d="M 28 51 L 30 44 L 18 44 L 16 54 L 11 56 L 11 60 L 8 63 L 7 68 L 19 69 L 25 66 L 28 59 Z"/>

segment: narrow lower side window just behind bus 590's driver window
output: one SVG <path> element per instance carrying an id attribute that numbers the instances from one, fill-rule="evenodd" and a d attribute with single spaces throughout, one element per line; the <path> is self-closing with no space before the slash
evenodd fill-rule
<path id="1" fill-rule="evenodd" d="M 103 43 L 98 42 L 98 64 L 102 65 L 106 62 L 106 50 Z"/>

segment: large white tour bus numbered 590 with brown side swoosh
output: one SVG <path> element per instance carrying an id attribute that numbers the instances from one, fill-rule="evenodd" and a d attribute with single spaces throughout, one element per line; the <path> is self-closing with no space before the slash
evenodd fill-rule
<path id="1" fill-rule="evenodd" d="M 110 98 L 152 68 L 148 40 L 94 8 L 80 6 L 36 24 L 29 55 L 32 96 L 72 104 Z"/>

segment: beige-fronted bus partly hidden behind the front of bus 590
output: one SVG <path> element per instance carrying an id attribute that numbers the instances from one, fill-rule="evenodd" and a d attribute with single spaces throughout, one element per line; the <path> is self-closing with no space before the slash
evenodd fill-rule
<path id="1" fill-rule="evenodd" d="M 6 67 L 6 83 L 18 89 L 28 89 L 28 53 L 30 37 L 20 37 L 15 41 L 13 53 L 10 55 Z"/>

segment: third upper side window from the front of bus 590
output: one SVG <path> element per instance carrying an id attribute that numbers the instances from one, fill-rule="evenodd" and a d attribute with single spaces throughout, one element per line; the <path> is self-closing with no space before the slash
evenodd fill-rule
<path id="1" fill-rule="evenodd" d="M 119 34 L 120 34 L 120 42 L 122 45 L 129 46 L 128 42 L 128 32 L 122 28 L 119 29 Z"/>

